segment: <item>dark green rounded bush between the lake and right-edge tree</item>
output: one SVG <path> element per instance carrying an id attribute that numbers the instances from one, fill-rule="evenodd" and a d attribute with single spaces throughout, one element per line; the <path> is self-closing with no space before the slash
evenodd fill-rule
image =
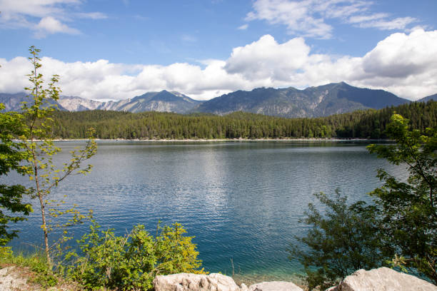
<path id="1" fill-rule="evenodd" d="M 305 248 L 292 245 L 290 259 L 297 258 L 306 272 L 306 283 L 313 290 L 325 290 L 337 285 L 347 275 L 359 269 L 380 267 L 386 260 L 381 242 L 378 210 L 373 205 L 358 201 L 348 205 L 346 195 L 336 190 L 330 197 L 315 194 L 326 205 L 320 213 L 310 203 L 306 218 L 306 236 L 297 238 Z"/>

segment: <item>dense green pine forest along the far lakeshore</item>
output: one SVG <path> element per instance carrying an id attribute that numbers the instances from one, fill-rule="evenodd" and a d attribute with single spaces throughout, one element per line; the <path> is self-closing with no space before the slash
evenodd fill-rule
<path id="1" fill-rule="evenodd" d="M 323 118 L 278 118 L 236 112 L 226 116 L 208 114 L 120 111 L 57 111 L 54 136 L 86 138 L 96 129 L 102 139 L 197 139 L 197 138 L 387 138 L 386 124 L 393 113 L 410 120 L 423 131 L 437 126 L 437 102 L 408 103 L 381 110 L 369 109 Z"/>

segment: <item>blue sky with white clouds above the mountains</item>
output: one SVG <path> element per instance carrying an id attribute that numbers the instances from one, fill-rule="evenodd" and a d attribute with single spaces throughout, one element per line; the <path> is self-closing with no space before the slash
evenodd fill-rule
<path id="1" fill-rule="evenodd" d="M 0 92 L 29 86 L 29 46 L 62 95 L 208 100 L 345 81 L 437 93 L 436 0 L 0 0 Z"/>

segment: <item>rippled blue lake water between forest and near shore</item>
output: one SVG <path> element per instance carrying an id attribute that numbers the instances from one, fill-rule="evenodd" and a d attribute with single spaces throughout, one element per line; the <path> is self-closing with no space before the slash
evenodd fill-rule
<path id="1" fill-rule="evenodd" d="M 59 143 L 68 151 L 79 142 Z M 105 228 L 126 233 L 138 223 L 154 233 L 163 224 L 181 223 L 194 235 L 209 272 L 286 279 L 299 272 L 287 248 L 306 232 L 298 223 L 313 193 L 339 188 L 351 202 L 368 200 L 380 185 L 377 168 L 396 175 L 405 170 L 368 154 L 366 143 L 351 142 L 99 142 L 89 175 L 63 181 L 53 193 L 66 205 L 94 210 Z M 8 183 L 26 178 L 9 175 Z M 320 205 L 318 205 L 320 206 Z M 38 208 L 16 225 L 16 249 L 41 245 Z M 76 231 L 85 231 L 81 226 Z M 300 246 L 303 247 L 303 246 Z"/>

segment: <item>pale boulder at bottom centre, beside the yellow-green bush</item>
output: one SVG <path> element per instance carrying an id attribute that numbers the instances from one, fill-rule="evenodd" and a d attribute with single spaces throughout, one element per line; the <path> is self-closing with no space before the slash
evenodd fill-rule
<path id="1" fill-rule="evenodd" d="M 218 273 L 156 276 L 153 283 L 155 291 L 247 291 L 246 285 L 240 288 L 231 277 Z"/>

